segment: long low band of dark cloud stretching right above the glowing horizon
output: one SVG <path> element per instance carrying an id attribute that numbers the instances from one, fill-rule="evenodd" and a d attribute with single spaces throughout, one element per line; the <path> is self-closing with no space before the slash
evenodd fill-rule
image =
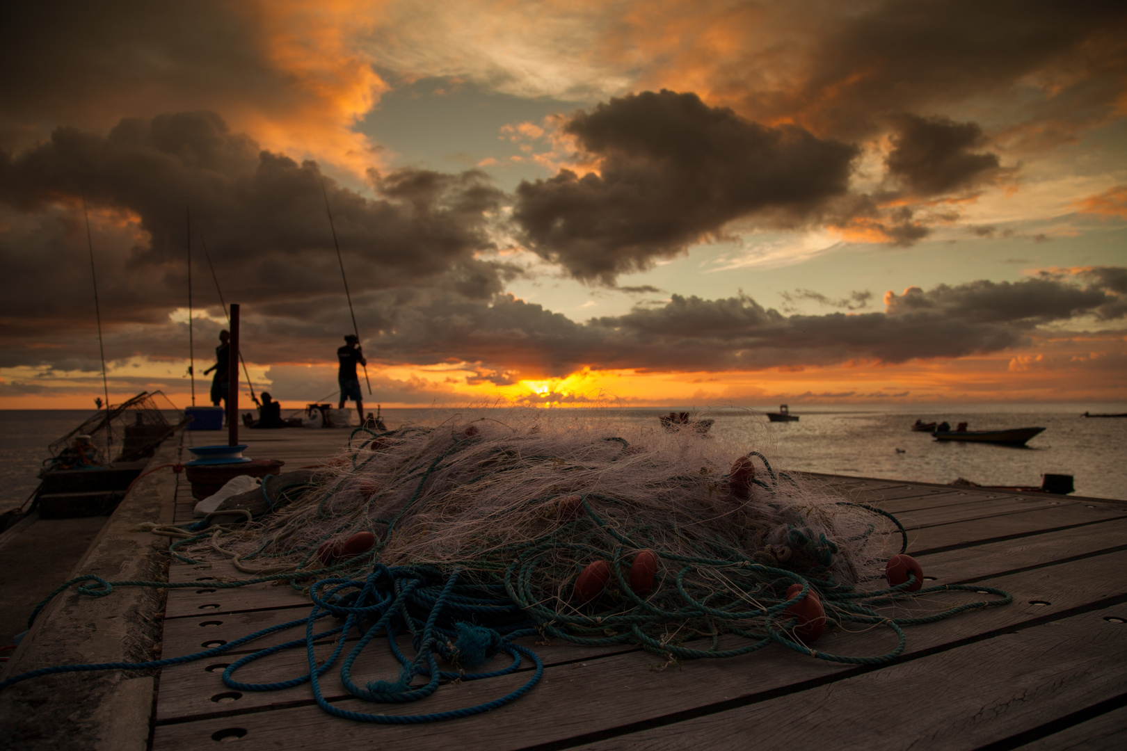
<path id="1" fill-rule="evenodd" d="M 911 287 L 889 293 L 885 312 L 850 315 L 784 315 L 746 296 L 674 295 L 663 306 L 586 324 L 511 295 L 491 304 L 432 296 L 387 309 L 390 328 L 371 346 L 403 361 L 476 364 L 478 381 L 505 383 L 585 366 L 690 372 L 903 363 L 1004 350 L 1046 323 L 1107 318 L 1122 299 L 1112 285 L 1080 286 L 1075 279 Z"/>

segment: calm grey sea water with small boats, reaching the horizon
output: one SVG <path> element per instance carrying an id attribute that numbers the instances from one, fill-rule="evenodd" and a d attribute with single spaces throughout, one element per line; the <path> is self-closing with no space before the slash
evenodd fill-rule
<path id="1" fill-rule="evenodd" d="M 671 409 L 629 409 L 623 417 L 656 424 Z M 756 408 L 760 412 L 774 406 Z M 983 485 L 1039 485 L 1042 473 L 1071 474 L 1076 494 L 1127 500 L 1127 418 L 1083 418 L 1085 411 L 1127 412 L 1127 404 L 970 404 L 890 406 L 791 405 L 798 422 L 769 423 L 762 415 L 719 409 L 712 431 L 735 437 L 784 470 L 947 483 L 965 477 Z M 384 410 L 390 427 L 425 419 L 429 410 Z M 92 412 L 0 411 L 0 511 L 35 490 L 47 444 Z M 935 441 L 912 432 L 924 422 L 969 422 L 970 430 L 1038 426 L 1027 448 Z M 896 449 L 903 449 L 898 453 Z"/>

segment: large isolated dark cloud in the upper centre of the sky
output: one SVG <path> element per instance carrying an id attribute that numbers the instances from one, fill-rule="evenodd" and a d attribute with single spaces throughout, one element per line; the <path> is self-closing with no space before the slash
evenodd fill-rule
<path id="1" fill-rule="evenodd" d="M 733 220 L 799 223 L 848 189 L 854 146 L 769 127 L 696 95 L 630 95 L 565 131 L 600 175 L 522 181 L 514 218 L 532 250 L 584 281 L 613 284 Z"/>

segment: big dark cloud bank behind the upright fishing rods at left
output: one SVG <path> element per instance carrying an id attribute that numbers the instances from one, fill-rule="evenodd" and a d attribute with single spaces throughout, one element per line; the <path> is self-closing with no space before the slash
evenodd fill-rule
<path id="1" fill-rule="evenodd" d="M 188 200 L 197 306 L 218 302 L 205 239 L 229 301 L 307 322 L 339 319 L 343 288 L 322 185 L 361 296 L 434 285 L 488 299 L 517 272 L 473 258 L 491 247 L 488 215 L 503 196 L 480 172 L 407 169 L 371 179 L 374 199 L 323 178 L 314 162 L 260 151 L 211 113 L 125 118 L 106 136 L 57 128 L 34 149 L 0 152 L 0 205 L 9 207 L 0 206 L 0 256 L 21 281 L 0 302 L 5 343 L 92 323 L 80 190 L 94 213 L 109 324 L 158 324 L 186 306 Z M 8 349 L 17 359 L 44 355 Z"/>

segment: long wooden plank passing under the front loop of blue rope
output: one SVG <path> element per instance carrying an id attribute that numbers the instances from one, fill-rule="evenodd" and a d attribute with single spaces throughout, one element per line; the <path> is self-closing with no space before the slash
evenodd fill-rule
<path id="1" fill-rule="evenodd" d="M 951 618 L 938 625 L 913 628 L 909 633 L 908 653 L 957 649 L 961 640 L 967 636 L 991 629 L 1011 631 L 1018 624 L 1047 617 L 1044 614 L 1054 613 L 1054 608 L 1059 608 L 1055 610 L 1056 613 L 1066 613 L 1071 608 L 1091 601 L 1093 594 L 1104 597 L 1113 592 L 1125 597 L 1127 582 L 1116 582 L 1118 587 L 1112 590 L 1100 576 L 1102 572 L 1124 565 L 1127 565 L 1127 552 L 1103 556 L 1094 564 L 1090 561 L 1080 561 L 1000 578 L 993 583 L 1013 591 L 1014 605 Z M 953 596 L 943 594 L 942 598 L 944 602 L 949 602 Z M 1049 605 L 1031 605 L 1030 600 L 1045 601 Z M 824 643 L 819 642 L 819 646 L 831 652 L 864 654 L 879 653 L 888 649 L 889 642 L 889 636 L 881 632 L 836 633 L 824 637 Z M 467 739 L 464 748 L 496 750 L 518 748 L 533 742 L 560 741 L 629 723 L 651 722 L 671 713 L 708 707 L 737 697 L 747 698 L 778 691 L 807 680 L 826 680 L 834 674 L 845 677 L 852 674 L 853 670 L 840 663 L 799 658 L 782 647 L 769 647 L 730 660 L 690 661 L 677 669 L 654 672 L 651 668 L 659 661 L 660 659 L 655 655 L 632 652 L 586 660 L 585 664 L 573 663 L 575 667 L 549 669 L 542 683 L 521 699 L 518 713 L 509 714 L 508 722 L 503 722 L 500 712 L 490 713 L 488 724 L 478 726 L 482 731 L 487 730 L 488 737 L 480 739 L 481 742 L 478 742 L 478 739 L 473 741 Z M 978 667 L 980 669 L 982 664 Z M 485 686 L 477 686 L 478 683 Z M 474 687 L 470 694 L 463 692 L 467 686 Z M 443 710 L 467 706 L 468 703 L 476 700 L 474 697 L 500 695 L 508 687 L 507 679 L 474 681 L 446 687 L 435 697 L 427 699 L 425 706 L 384 709 L 388 714 Z M 628 694 L 627 687 L 629 687 Z M 346 700 L 340 703 L 340 706 L 356 710 L 372 710 L 371 706 L 364 706 L 364 703 L 357 700 Z M 530 716 L 542 718 L 535 730 L 530 730 L 525 722 Z M 461 724 L 461 721 L 458 723 Z M 161 740 L 154 748 L 190 748 L 193 742 L 198 743 L 206 736 L 203 733 L 210 734 L 229 726 L 247 728 L 256 736 L 263 735 L 267 740 L 270 727 L 286 726 L 299 728 L 294 733 L 295 736 L 326 737 L 327 734 L 331 734 L 337 742 L 358 741 L 360 736 L 352 734 L 350 725 L 350 723 L 341 725 L 316 708 L 278 709 L 265 714 L 238 715 L 220 724 L 214 724 L 213 721 L 198 721 L 169 725 L 158 731 L 158 737 Z M 450 732 L 460 732 L 454 730 L 453 724 L 445 724 L 445 727 Z M 381 730 L 379 737 L 381 742 L 410 739 L 412 745 L 420 749 L 432 748 L 428 744 L 440 743 L 443 737 L 441 732 L 432 734 L 429 728 L 417 730 L 421 731 L 419 736 L 414 733 L 399 736 L 393 728 Z M 249 734 L 243 739 L 247 740 L 250 740 Z"/>

